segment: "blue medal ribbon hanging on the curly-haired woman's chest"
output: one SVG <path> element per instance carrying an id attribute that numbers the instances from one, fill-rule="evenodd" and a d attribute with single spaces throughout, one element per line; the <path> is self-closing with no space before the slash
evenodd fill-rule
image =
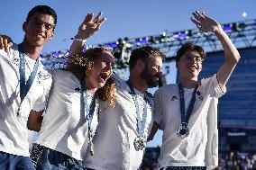
<path id="1" fill-rule="evenodd" d="M 80 79 L 82 97 L 81 97 L 81 110 L 82 112 L 87 112 L 87 121 L 88 121 L 88 138 L 91 141 L 93 139 L 92 132 L 92 120 L 94 116 L 94 112 L 96 111 L 96 95 L 93 96 L 92 102 L 88 106 L 87 104 L 87 85 L 83 78 Z"/>

